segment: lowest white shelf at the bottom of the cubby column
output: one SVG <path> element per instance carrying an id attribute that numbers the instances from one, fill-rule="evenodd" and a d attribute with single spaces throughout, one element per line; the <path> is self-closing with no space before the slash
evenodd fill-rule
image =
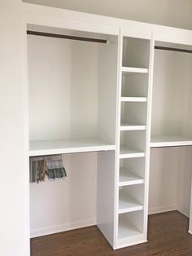
<path id="1" fill-rule="evenodd" d="M 128 238 L 130 236 L 138 236 L 141 235 L 137 227 L 133 225 L 133 223 L 129 222 L 129 219 L 124 217 L 122 214 L 119 218 L 119 230 L 118 230 L 118 239 Z"/>

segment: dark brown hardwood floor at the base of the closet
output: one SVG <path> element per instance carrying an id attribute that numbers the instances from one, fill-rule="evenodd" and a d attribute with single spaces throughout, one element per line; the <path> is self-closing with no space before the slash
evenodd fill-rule
<path id="1" fill-rule="evenodd" d="M 192 256 L 189 219 L 177 211 L 149 216 L 148 242 L 111 249 L 98 227 L 41 236 L 31 240 L 31 256 Z"/>

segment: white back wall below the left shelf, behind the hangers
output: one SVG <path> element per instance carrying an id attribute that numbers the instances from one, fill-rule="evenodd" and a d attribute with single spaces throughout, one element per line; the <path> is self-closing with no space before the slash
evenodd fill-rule
<path id="1" fill-rule="evenodd" d="M 96 223 L 97 153 L 63 155 L 63 166 L 67 179 L 30 184 L 31 236 Z"/>

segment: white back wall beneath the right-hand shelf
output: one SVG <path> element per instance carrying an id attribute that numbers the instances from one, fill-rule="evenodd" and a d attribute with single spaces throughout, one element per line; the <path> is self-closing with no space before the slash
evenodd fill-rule
<path id="1" fill-rule="evenodd" d="M 177 209 L 177 173 L 184 161 L 182 148 L 151 149 L 150 214 Z"/>

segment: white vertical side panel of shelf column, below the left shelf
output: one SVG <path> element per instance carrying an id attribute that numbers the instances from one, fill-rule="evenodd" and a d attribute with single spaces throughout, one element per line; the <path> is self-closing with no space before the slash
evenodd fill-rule
<path id="1" fill-rule="evenodd" d="M 98 152 L 97 225 L 114 247 L 115 151 Z"/>

